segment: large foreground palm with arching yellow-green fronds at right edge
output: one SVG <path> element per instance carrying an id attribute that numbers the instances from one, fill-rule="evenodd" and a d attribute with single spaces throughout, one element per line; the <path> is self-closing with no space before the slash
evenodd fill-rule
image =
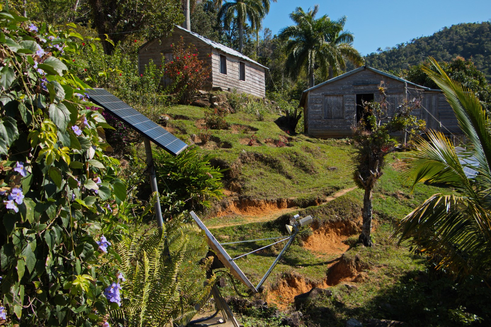
<path id="1" fill-rule="evenodd" d="M 430 142 L 418 140 L 405 174 L 413 186 L 445 183 L 459 194 L 431 196 L 401 221 L 394 235 L 399 243 L 409 240 L 427 253 L 437 268 L 461 278 L 491 264 L 491 120 L 474 93 L 450 79 L 435 59 L 431 61 L 439 74 L 422 69 L 444 92 L 469 145 L 458 155 L 449 139 L 431 131 Z M 475 158 L 478 167 L 466 164 L 463 155 Z M 477 174 L 466 175 L 466 167 Z"/>

